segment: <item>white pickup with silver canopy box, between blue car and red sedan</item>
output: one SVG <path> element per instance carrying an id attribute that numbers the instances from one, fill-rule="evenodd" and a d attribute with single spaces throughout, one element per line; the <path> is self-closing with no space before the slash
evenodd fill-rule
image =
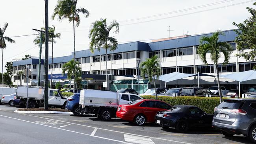
<path id="1" fill-rule="evenodd" d="M 115 116 L 119 104 L 123 105 L 139 99 L 143 98 L 136 94 L 83 89 L 80 92 L 79 104 L 82 110 L 79 116 L 88 113 L 95 114 L 102 120 L 110 120 Z"/>

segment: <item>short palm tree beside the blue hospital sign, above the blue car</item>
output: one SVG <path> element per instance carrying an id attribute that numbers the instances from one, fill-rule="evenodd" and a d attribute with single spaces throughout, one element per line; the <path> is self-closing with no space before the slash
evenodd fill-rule
<path id="1" fill-rule="evenodd" d="M 73 76 L 74 79 L 74 92 L 76 92 L 76 89 L 78 90 L 76 78 L 81 76 L 82 70 L 79 66 L 79 61 L 75 61 L 72 59 L 71 61 L 65 63 L 62 66 L 62 74 L 65 74 L 67 72 L 67 78 L 71 79 Z"/>

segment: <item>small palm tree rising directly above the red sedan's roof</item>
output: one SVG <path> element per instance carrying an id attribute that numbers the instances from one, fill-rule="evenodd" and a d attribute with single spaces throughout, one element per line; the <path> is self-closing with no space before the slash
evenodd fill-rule
<path id="1" fill-rule="evenodd" d="M 156 93 L 156 79 L 159 78 L 161 75 L 161 66 L 159 63 L 159 58 L 157 55 L 154 55 L 151 58 L 146 59 L 146 61 L 143 61 L 141 65 L 139 66 L 141 70 L 141 76 L 143 79 L 145 79 L 145 75 L 148 76 L 148 80 L 152 81 L 152 78 L 154 80 L 154 86 L 155 86 L 155 93 Z M 156 100 L 157 100 L 157 93 L 156 93 Z"/>

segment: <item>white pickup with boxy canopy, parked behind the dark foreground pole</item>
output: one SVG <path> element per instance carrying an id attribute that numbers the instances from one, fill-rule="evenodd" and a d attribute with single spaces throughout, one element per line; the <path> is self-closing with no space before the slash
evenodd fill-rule
<path id="1" fill-rule="evenodd" d="M 44 106 L 45 87 L 28 86 L 28 107 Z M 17 87 L 16 99 L 20 99 L 20 107 L 26 107 L 27 87 L 19 85 Z M 65 107 L 67 97 L 63 97 L 58 89 L 48 90 L 49 107 Z"/>

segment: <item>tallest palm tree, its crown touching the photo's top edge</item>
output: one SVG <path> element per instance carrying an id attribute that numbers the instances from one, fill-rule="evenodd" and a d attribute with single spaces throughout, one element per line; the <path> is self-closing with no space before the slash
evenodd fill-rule
<path id="1" fill-rule="evenodd" d="M 73 22 L 73 33 L 74 33 L 74 59 L 76 59 L 76 46 L 75 46 L 75 21 L 76 26 L 80 24 L 80 16 L 78 13 L 85 14 L 85 18 L 89 17 L 89 11 L 84 8 L 76 9 L 77 0 L 58 0 L 57 6 L 55 6 L 54 12 L 52 14 L 52 19 L 58 15 L 59 21 L 64 18 L 68 18 L 69 22 Z"/>

